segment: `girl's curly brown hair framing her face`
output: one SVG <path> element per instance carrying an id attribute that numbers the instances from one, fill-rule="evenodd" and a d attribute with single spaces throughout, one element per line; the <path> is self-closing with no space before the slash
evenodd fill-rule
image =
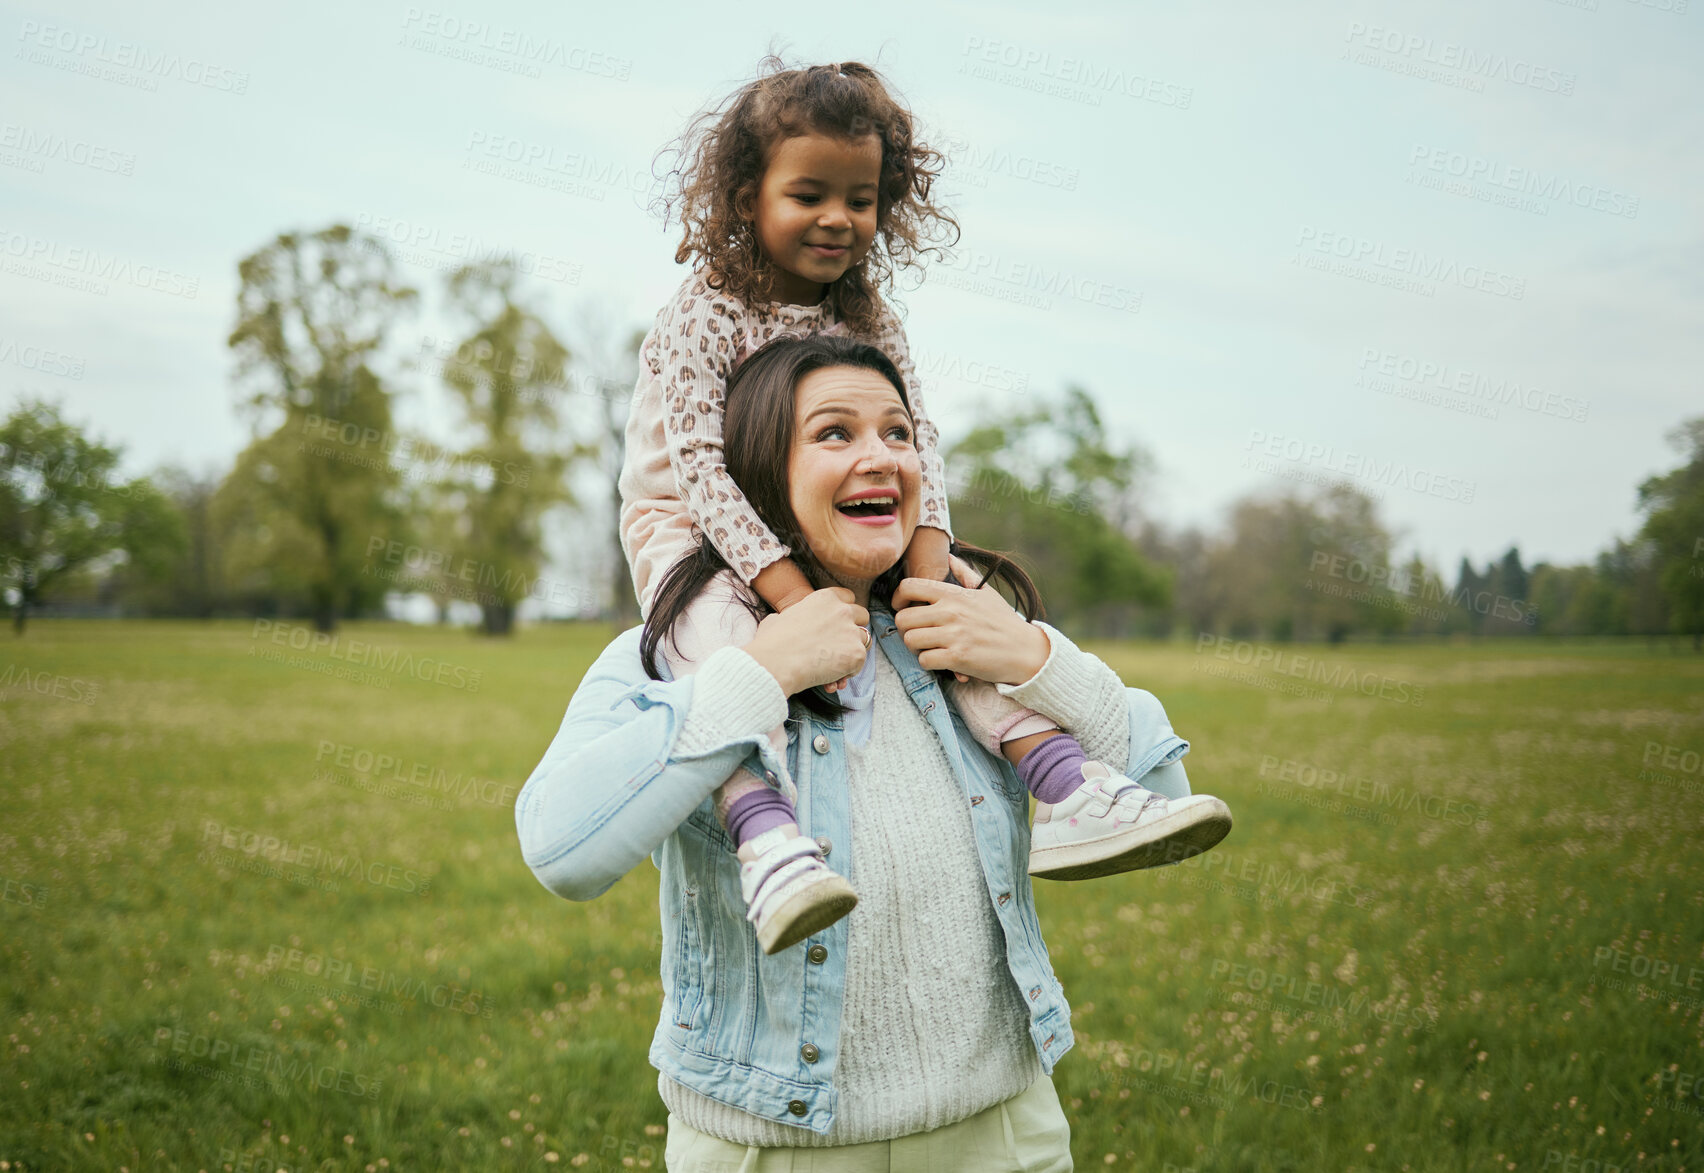
<path id="1" fill-rule="evenodd" d="M 680 162 L 665 176 L 665 191 L 653 206 L 661 203 L 668 223 L 680 205 L 676 264 L 692 261 L 695 271 L 705 271 L 711 288 L 748 305 L 769 303 L 775 266 L 758 244 L 751 210 L 774 145 L 806 133 L 881 138 L 876 239 L 823 298 L 837 319 L 867 336 L 881 315 L 881 290 L 896 269 L 920 271 L 920 254 L 944 254 L 932 242 L 946 235 L 947 225 L 947 244 L 959 237 L 958 222 L 929 198 L 946 155 L 915 140 L 910 111 L 876 70 L 859 61 L 791 70 L 770 53 L 758 63 L 757 80 L 699 114 L 659 152 L 680 155 Z"/>

